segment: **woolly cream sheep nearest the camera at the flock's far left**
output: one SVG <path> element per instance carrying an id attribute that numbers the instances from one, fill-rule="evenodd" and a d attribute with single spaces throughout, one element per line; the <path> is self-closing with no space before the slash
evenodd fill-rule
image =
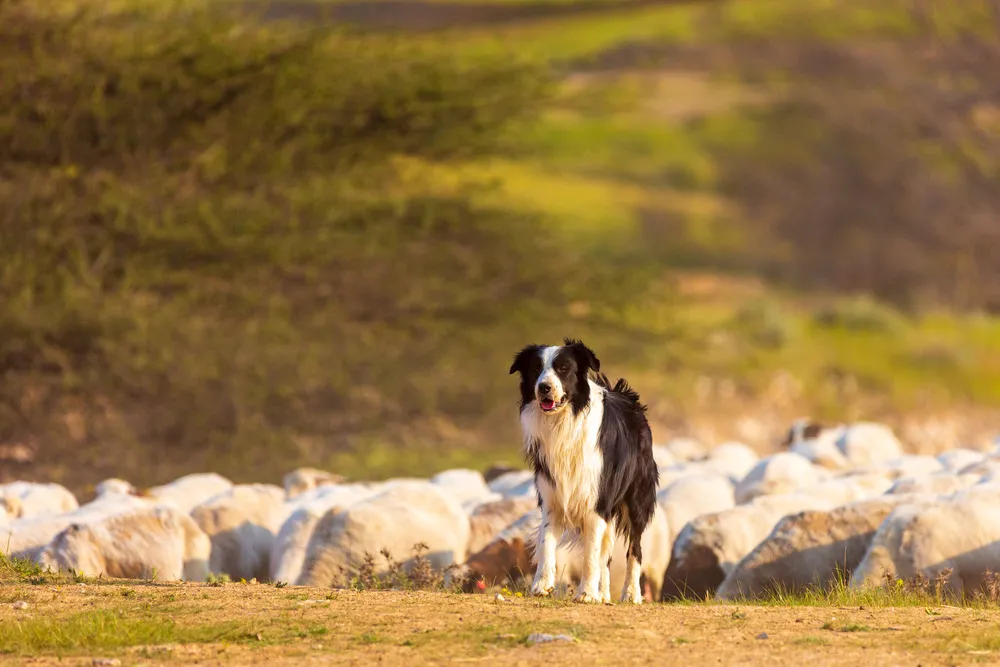
<path id="1" fill-rule="evenodd" d="M 204 581 L 210 551 L 191 517 L 170 507 L 145 507 L 71 523 L 38 561 L 90 577 Z"/>

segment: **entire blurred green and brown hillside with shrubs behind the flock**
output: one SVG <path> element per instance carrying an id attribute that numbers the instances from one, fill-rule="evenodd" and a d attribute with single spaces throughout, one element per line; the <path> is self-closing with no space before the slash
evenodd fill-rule
<path id="1" fill-rule="evenodd" d="M 658 440 L 972 444 L 1000 2 L 0 0 L 0 476 L 516 460 L 582 337 Z"/>

